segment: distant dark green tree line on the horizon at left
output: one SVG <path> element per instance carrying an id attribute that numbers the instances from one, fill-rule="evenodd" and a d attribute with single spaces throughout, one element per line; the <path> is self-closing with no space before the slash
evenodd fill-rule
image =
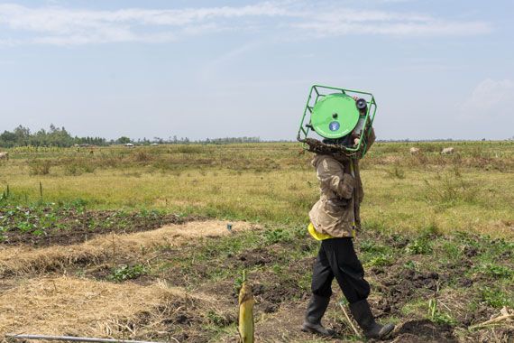
<path id="1" fill-rule="evenodd" d="M 13 131 L 5 130 L 0 134 L 0 146 L 12 148 L 15 146 L 60 146 L 69 147 L 73 145 L 112 145 L 112 144 L 231 144 L 231 143 L 259 143 L 262 142 L 260 137 L 226 137 L 226 138 L 207 138 L 205 140 L 191 141 L 188 137 L 169 137 L 164 139 L 161 137 L 153 137 L 152 140 L 143 138 L 133 140 L 129 137 L 122 136 L 116 140 L 106 140 L 102 137 L 78 137 L 72 136 L 64 127 L 56 127 L 50 125 L 48 130 L 41 129 L 32 133 L 28 127 L 19 125 Z"/>

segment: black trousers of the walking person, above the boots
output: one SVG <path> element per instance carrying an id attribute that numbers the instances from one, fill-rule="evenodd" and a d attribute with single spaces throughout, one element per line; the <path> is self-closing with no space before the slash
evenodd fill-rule
<path id="1" fill-rule="evenodd" d="M 312 274 L 312 292 L 324 298 L 330 297 L 334 278 L 348 302 L 368 298 L 370 284 L 364 280 L 363 264 L 355 254 L 350 237 L 321 241 Z"/>

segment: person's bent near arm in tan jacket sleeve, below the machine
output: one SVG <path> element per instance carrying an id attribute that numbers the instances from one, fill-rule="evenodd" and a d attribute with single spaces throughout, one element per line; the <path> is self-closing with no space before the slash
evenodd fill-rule
<path id="1" fill-rule="evenodd" d="M 317 178 L 342 199 L 352 199 L 355 179 L 342 165 L 329 157 L 317 163 Z"/>

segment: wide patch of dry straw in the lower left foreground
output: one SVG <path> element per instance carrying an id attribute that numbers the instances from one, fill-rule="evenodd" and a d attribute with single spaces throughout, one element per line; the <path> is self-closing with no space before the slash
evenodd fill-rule
<path id="1" fill-rule="evenodd" d="M 176 311 L 174 304 L 187 302 L 188 298 L 200 301 L 159 284 L 142 287 L 69 277 L 29 280 L 0 295 L 0 336 L 38 333 L 137 337 L 154 329 L 157 321 Z M 151 318 L 138 326 L 143 312 Z"/>

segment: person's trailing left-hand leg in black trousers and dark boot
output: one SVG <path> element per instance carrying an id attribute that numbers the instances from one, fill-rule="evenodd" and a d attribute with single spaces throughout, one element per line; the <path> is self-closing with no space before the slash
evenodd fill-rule
<path id="1" fill-rule="evenodd" d="M 321 319 L 325 314 L 330 296 L 332 295 L 333 280 L 334 273 L 332 273 L 323 246 L 321 246 L 314 264 L 311 284 L 312 296 L 308 301 L 302 331 L 312 332 L 322 336 L 333 336 L 335 334 L 333 330 L 325 329 L 323 325 L 321 325 Z"/>

